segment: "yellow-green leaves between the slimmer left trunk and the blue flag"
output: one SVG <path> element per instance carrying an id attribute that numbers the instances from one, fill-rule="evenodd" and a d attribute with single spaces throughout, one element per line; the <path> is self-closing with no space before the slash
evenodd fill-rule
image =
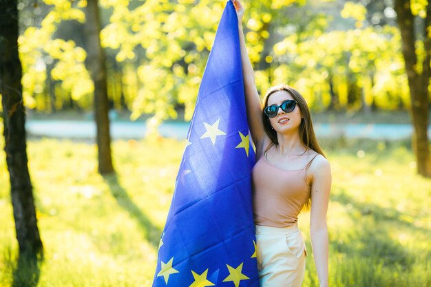
<path id="1" fill-rule="evenodd" d="M 134 9 L 124 1 L 102 3 L 113 8 L 101 33 L 103 45 L 118 50 L 116 60 L 133 63 L 138 71 L 132 118 L 142 113 L 158 119 L 176 117 L 176 103 L 185 105 L 188 116 L 200 83 L 196 71 L 202 73 L 196 65 L 206 61 L 203 57 L 211 49 L 224 3 L 145 1 Z M 138 45 L 145 57 L 136 63 L 132 53 Z"/>

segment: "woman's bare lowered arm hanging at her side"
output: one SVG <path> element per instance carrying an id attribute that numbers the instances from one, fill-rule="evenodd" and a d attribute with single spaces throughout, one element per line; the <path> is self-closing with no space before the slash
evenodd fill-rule
<path id="1" fill-rule="evenodd" d="M 313 160 L 308 171 L 311 172 L 311 217 L 310 235 L 313 245 L 317 276 L 320 287 L 328 286 L 328 226 L 326 212 L 328 211 L 331 174 L 330 164 L 323 156 Z"/>

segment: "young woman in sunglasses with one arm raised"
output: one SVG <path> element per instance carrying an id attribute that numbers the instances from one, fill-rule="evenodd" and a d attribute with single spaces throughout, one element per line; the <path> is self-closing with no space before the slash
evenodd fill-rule
<path id="1" fill-rule="evenodd" d="M 297 90 L 272 87 L 262 109 L 242 32 L 244 8 L 238 0 L 233 5 L 240 31 L 247 118 L 256 147 L 253 208 L 260 286 L 302 285 L 306 249 L 297 215 L 309 206 L 317 275 L 320 286 L 326 287 L 330 165 L 317 143 L 306 101 Z"/>

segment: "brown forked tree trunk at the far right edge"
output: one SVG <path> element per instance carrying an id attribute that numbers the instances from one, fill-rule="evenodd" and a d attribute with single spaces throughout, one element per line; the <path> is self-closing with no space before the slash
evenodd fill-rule
<path id="1" fill-rule="evenodd" d="M 414 27 L 415 17 L 410 6 L 410 0 L 395 0 L 397 23 L 401 31 L 402 50 L 412 101 L 413 147 L 417 159 L 417 172 L 426 177 L 431 177 L 431 158 L 428 145 L 428 86 L 431 76 L 430 2 L 428 1 L 426 7 L 421 10 L 423 29 L 417 33 Z M 416 48 L 417 42 L 422 43 L 422 49 Z"/>

